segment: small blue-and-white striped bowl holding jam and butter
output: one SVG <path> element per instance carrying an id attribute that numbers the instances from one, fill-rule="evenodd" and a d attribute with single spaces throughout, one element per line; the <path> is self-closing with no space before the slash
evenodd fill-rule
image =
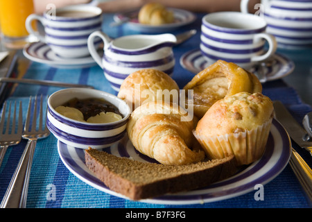
<path id="1" fill-rule="evenodd" d="M 69 119 L 55 111 L 71 99 L 105 99 L 119 109 L 122 119 L 112 123 L 85 123 Z M 76 148 L 105 148 L 121 140 L 130 117 L 130 107 L 117 96 L 97 89 L 62 89 L 49 96 L 46 126 L 64 144 Z"/>

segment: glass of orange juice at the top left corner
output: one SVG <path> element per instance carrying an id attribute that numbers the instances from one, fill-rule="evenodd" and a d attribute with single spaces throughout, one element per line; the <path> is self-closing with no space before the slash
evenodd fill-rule
<path id="1" fill-rule="evenodd" d="M 26 37 L 25 21 L 34 12 L 33 0 L 0 0 L 0 27 L 6 37 Z"/>

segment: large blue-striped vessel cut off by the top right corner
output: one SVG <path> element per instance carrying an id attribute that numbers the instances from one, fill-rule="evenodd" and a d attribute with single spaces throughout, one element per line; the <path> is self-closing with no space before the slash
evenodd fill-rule
<path id="1" fill-rule="evenodd" d="M 244 13 L 248 13 L 248 2 L 241 1 Z M 275 36 L 279 48 L 312 46 L 312 0 L 261 0 L 257 7 L 268 24 L 266 32 Z"/>

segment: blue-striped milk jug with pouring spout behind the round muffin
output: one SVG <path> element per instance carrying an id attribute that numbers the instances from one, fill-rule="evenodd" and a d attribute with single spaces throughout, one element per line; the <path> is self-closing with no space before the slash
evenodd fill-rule
<path id="1" fill-rule="evenodd" d="M 103 56 L 94 46 L 96 37 L 104 42 Z M 176 41 L 172 34 L 125 35 L 112 40 L 105 33 L 96 31 L 89 36 L 88 47 L 105 78 L 119 92 L 123 80 L 139 69 L 158 69 L 171 76 L 175 66 L 172 47 Z"/>

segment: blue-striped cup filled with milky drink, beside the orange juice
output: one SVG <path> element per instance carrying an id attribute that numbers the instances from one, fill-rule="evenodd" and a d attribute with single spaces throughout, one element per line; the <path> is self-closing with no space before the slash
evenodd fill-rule
<path id="1" fill-rule="evenodd" d="M 44 26 L 44 34 L 33 29 L 33 20 Z M 41 42 L 63 58 L 89 56 L 87 39 L 94 31 L 102 28 L 102 10 L 96 6 L 77 5 L 46 10 L 43 15 L 32 14 L 26 19 L 26 28 Z M 100 44 L 96 40 L 95 44 Z"/>

